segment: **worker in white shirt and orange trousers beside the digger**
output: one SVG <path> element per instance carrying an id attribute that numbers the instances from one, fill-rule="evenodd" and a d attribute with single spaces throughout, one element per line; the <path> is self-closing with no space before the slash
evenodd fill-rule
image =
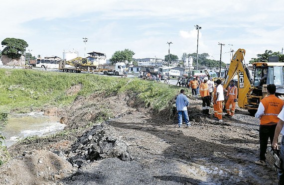
<path id="1" fill-rule="evenodd" d="M 219 119 L 219 123 L 223 123 L 223 117 L 222 117 L 222 113 L 223 113 L 223 108 L 222 108 L 222 103 L 224 101 L 224 90 L 223 90 L 223 86 L 222 86 L 222 81 L 220 79 L 218 79 L 216 81 L 217 83 L 217 88 L 216 88 L 216 100 L 214 101 L 215 108 L 217 111 L 217 118 Z"/>

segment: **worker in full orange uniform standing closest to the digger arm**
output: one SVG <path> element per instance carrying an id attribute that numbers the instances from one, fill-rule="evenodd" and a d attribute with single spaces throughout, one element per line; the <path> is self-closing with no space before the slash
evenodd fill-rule
<path id="1" fill-rule="evenodd" d="M 236 107 L 236 101 L 238 97 L 238 88 L 235 86 L 235 82 L 231 81 L 230 86 L 227 91 L 227 103 L 226 103 L 226 111 L 228 116 L 233 116 L 235 114 L 235 107 Z M 232 108 L 230 111 L 230 105 L 232 104 Z"/>

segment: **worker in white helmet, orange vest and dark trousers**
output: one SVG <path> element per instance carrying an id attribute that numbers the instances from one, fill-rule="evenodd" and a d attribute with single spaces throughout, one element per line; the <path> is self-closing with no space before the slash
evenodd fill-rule
<path id="1" fill-rule="evenodd" d="M 210 108 L 210 93 L 208 89 L 208 77 L 203 79 L 203 82 L 200 84 L 199 92 L 202 99 L 202 113 L 209 115 L 209 108 Z"/>

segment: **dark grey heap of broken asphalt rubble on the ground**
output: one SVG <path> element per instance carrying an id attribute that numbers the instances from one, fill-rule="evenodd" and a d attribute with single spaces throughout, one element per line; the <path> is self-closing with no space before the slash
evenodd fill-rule
<path id="1" fill-rule="evenodd" d="M 131 160 L 131 155 L 125 141 L 120 139 L 106 122 L 94 126 L 85 132 L 73 145 L 68 161 L 74 167 L 80 168 L 83 163 L 105 158 Z"/>

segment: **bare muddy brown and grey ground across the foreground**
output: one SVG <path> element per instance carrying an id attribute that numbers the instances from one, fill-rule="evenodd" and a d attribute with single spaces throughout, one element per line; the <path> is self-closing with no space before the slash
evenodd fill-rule
<path id="1" fill-rule="evenodd" d="M 277 184 L 276 172 L 254 164 L 258 119 L 237 108 L 219 124 L 202 115 L 200 99 L 189 98 L 189 128 L 177 127 L 176 112 L 152 112 L 128 95 L 93 94 L 64 109 L 47 107 L 47 114 L 63 117 L 68 136 L 10 147 L 13 158 L 0 168 L 0 184 Z"/>

